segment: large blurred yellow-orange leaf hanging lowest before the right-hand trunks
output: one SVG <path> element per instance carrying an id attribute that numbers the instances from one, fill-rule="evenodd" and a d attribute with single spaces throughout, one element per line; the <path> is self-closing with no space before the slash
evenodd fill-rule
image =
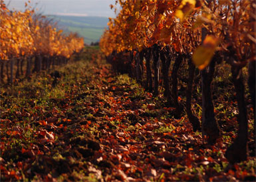
<path id="1" fill-rule="evenodd" d="M 219 40 L 213 35 L 207 35 L 203 45 L 197 47 L 193 52 L 192 60 L 199 70 L 203 70 L 211 62 L 211 58 L 219 45 Z"/>

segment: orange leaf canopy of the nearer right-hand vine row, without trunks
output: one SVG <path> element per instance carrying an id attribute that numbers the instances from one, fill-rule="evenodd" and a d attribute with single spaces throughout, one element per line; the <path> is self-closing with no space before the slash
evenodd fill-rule
<path id="1" fill-rule="evenodd" d="M 251 1 L 118 3 L 120 13 L 115 19 L 110 18 L 100 41 L 106 55 L 114 50 L 140 52 L 158 43 L 162 47 L 171 46 L 176 52 L 193 53 L 193 62 L 200 69 L 209 64 L 216 50 L 227 52 L 231 47 L 239 59 L 250 50 L 251 54 L 243 59 L 255 60 L 255 4 Z"/>

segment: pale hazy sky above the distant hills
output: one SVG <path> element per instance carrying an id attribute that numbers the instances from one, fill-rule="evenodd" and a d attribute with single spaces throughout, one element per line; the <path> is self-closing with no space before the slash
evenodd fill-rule
<path id="1" fill-rule="evenodd" d="M 9 9 L 24 10 L 28 0 L 5 0 Z M 115 17 L 110 4 L 115 0 L 31 0 L 31 6 L 37 7 L 45 15 L 73 15 L 90 17 Z"/>

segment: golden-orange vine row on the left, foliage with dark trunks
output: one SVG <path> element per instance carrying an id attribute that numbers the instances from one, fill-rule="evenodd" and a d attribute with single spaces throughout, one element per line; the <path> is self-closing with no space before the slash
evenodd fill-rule
<path id="1" fill-rule="evenodd" d="M 25 3 L 27 7 L 27 3 Z M 37 15 L 34 9 L 28 7 L 24 12 L 10 11 L 1 1 L 0 7 L 0 60 L 1 80 L 3 72 L 6 71 L 9 82 L 13 82 L 13 62 L 17 60 L 23 67 L 24 60 L 27 60 L 27 76 L 31 73 L 31 58 L 34 58 L 34 71 L 39 72 L 42 66 L 49 68 L 50 62 L 66 62 L 74 53 L 80 52 L 84 46 L 83 39 L 74 33 L 64 35 L 58 29 L 57 24 L 51 23 L 50 19 L 43 15 Z M 58 60 L 53 60 L 57 59 Z M 50 60 L 51 59 L 51 60 Z M 57 63 L 56 63 L 57 62 Z M 7 65 L 4 70 L 4 66 Z M 43 65 L 42 65 L 43 64 Z M 9 67 L 9 68 L 8 68 Z M 29 67 L 29 68 L 28 68 Z M 8 72 L 8 69 L 11 72 Z M 17 75 L 18 74 L 18 75 Z M 19 77 L 19 70 L 16 77 Z"/>

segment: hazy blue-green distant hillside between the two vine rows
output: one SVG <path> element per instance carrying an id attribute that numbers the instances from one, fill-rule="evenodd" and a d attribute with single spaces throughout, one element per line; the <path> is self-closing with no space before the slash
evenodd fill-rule
<path id="1" fill-rule="evenodd" d="M 76 17 L 63 15 L 49 15 L 55 19 L 64 31 L 72 31 L 84 37 L 84 43 L 90 45 L 97 42 L 102 35 L 104 28 L 107 27 L 107 17 Z"/>

